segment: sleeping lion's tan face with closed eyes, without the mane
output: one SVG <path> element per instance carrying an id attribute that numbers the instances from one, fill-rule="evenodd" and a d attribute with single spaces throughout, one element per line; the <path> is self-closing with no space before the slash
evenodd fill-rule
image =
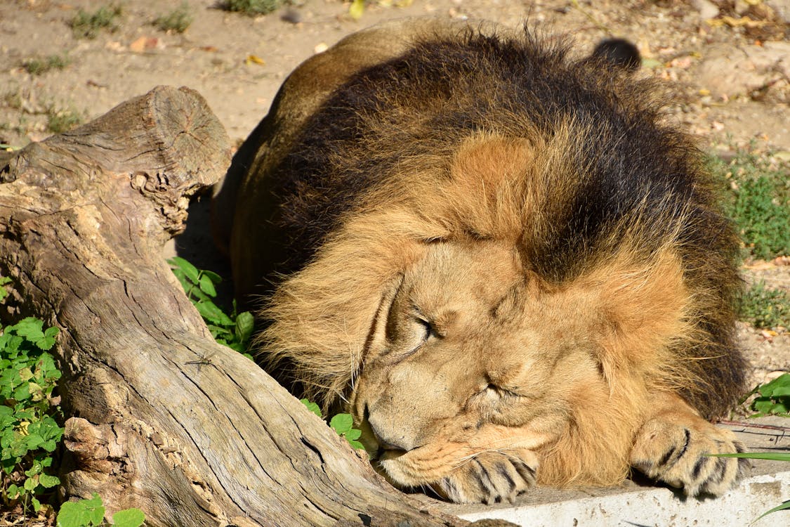
<path id="1" fill-rule="evenodd" d="M 606 390 L 596 298 L 541 283 L 503 244 L 428 245 L 382 302 L 351 401 L 387 478 L 452 495 L 484 453 L 509 480 L 534 471 L 574 397 Z"/>

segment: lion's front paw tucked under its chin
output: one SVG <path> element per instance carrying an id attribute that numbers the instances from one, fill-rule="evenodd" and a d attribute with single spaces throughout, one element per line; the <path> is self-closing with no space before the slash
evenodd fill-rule
<path id="1" fill-rule="evenodd" d="M 531 450 L 485 452 L 454 469 L 434 490 L 455 503 L 512 502 L 535 484 L 537 467 Z"/>

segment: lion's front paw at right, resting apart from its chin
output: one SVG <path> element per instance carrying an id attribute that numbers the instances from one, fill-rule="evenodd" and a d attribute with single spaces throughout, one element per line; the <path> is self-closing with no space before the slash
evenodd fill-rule
<path id="1" fill-rule="evenodd" d="M 747 459 L 709 457 L 746 449 L 732 431 L 714 427 L 696 416 L 671 422 L 653 419 L 637 434 L 631 465 L 655 480 L 683 487 L 687 495 L 720 495 L 747 471 Z"/>

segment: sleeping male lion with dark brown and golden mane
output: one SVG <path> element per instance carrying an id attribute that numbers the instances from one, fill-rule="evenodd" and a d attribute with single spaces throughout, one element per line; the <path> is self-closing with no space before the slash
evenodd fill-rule
<path id="1" fill-rule="evenodd" d="M 738 243 L 650 81 L 490 24 L 304 62 L 216 197 L 261 353 L 379 472 L 453 502 L 630 469 L 719 495 L 743 446 Z M 235 213 L 229 211 L 235 210 Z M 223 216 L 224 215 L 224 216 Z"/>

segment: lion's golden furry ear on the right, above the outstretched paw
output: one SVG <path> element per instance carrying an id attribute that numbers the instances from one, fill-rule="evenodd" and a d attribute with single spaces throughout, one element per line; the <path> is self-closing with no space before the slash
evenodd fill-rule
<path id="1" fill-rule="evenodd" d="M 673 341 L 690 330 L 692 298 L 675 250 L 648 258 L 622 254 L 585 280 L 596 303 L 600 363 L 610 383 L 622 375 L 651 375 Z"/>

